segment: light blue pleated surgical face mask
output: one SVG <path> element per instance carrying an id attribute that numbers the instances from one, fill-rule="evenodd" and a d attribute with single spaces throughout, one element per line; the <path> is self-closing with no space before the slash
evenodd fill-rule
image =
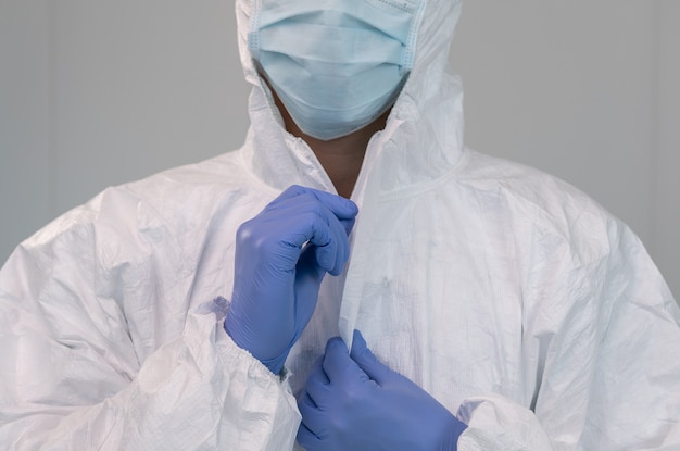
<path id="1" fill-rule="evenodd" d="M 392 107 L 424 0 L 253 1 L 250 51 L 302 131 L 339 138 Z"/>

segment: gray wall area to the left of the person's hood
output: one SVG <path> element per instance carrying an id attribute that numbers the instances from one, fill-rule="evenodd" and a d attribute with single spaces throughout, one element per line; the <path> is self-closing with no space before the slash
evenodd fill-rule
<path id="1" fill-rule="evenodd" d="M 0 261 L 110 185 L 241 145 L 232 3 L 0 0 Z"/>

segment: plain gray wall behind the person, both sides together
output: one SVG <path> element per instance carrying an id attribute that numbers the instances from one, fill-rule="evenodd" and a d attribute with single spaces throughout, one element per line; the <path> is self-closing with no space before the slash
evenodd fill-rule
<path id="1" fill-rule="evenodd" d="M 232 1 L 0 0 L 0 260 L 110 185 L 239 147 Z M 680 296 L 680 2 L 468 0 L 466 140 L 593 196 Z"/>

